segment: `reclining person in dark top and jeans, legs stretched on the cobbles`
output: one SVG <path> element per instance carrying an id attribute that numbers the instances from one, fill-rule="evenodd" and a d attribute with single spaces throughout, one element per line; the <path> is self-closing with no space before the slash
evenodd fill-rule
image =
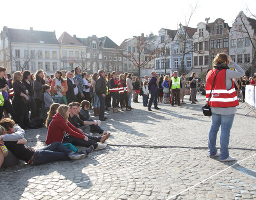
<path id="1" fill-rule="evenodd" d="M 0 135 L 15 133 L 15 122 L 12 119 L 9 121 L 1 120 L 0 124 L 4 127 L 4 131 L 2 131 Z M 91 146 L 85 151 L 75 153 L 74 151 L 66 148 L 60 142 L 53 142 L 47 147 L 35 150 L 34 148 L 25 146 L 26 143 L 27 140 L 25 138 L 21 138 L 17 141 L 5 141 L 4 145 L 7 149 L 11 150 L 14 156 L 31 165 L 41 165 L 60 160 L 67 161 L 70 159 L 82 159 L 93 151 L 93 146 Z"/>

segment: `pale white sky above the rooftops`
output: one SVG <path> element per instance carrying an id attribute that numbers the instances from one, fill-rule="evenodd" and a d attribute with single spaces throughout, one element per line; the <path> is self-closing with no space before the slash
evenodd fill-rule
<path id="1" fill-rule="evenodd" d="M 239 11 L 256 14 L 256 0 L 2 0 L 0 28 L 56 31 L 57 39 L 66 31 L 77 37 L 108 36 L 120 45 L 134 35 L 158 35 L 161 28 L 185 25 L 190 6 L 197 8 L 189 27 L 222 18 L 231 27 Z M 187 18 L 186 18 L 187 15 Z"/>

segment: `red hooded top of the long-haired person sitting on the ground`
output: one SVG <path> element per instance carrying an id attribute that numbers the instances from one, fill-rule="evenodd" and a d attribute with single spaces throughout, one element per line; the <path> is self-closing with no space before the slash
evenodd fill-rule
<path id="1" fill-rule="evenodd" d="M 47 136 L 45 140 L 46 145 L 50 145 L 53 142 L 62 142 L 64 132 L 67 132 L 74 138 L 85 138 L 85 135 L 81 131 L 79 131 L 70 122 L 67 123 L 65 119 L 61 116 L 61 114 L 56 113 L 52 117 L 52 122 L 48 127 Z"/>

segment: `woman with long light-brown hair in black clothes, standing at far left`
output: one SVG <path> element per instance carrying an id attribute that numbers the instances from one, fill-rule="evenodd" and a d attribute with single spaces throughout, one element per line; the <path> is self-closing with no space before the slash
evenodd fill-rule
<path id="1" fill-rule="evenodd" d="M 26 86 L 21 82 L 21 80 L 22 80 L 21 72 L 15 71 L 13 74 L 13 81 L 12 81 L 12 87 L 14 91 L 12 106 L 13 106 L 13 109 L 16 111 L 17 117 L 18 117 L 18 120 L 16 123 L 22 129 L 28 129 L 29 97 L 28 97 L 28 90 Z"/>

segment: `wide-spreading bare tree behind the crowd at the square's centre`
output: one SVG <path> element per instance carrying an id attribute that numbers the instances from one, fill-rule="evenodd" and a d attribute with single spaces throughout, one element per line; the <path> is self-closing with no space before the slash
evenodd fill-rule
<path id="1" fill-rule="evenodd" d="M 134 66 L 136 66 L 139 70 L 138 76 L 140 77 L 140 69 L 147 65 L 148 62 L 153 60 L 158 56 L 160 50 L 158 49 L 158 45 L 154 47 L 152 51 L 147 49 L 149 45 L 149 41 L 147 41 L 146 37 L 138 36 L 134 37 L 137 39 L 137 45 L 135 47 L 135 52 L 130 52 L 123 49 L 117 49 L 122 57 L 130 60 Z"/>

